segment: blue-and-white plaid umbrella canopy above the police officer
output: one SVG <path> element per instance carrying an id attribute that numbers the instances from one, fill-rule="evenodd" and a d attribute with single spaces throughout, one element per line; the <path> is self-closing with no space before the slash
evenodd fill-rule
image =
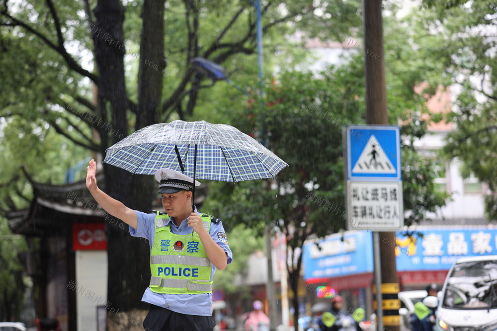
<path id="1" fill-rule="evenodd" d="M 273 178 L 288 166 L 238 129 L 205 121 L 154 124 L 106 151 L 103 162 L 134 174 L 152 175 L 157 169 L 170 168 L 196 179 L 224 182 Z"/>

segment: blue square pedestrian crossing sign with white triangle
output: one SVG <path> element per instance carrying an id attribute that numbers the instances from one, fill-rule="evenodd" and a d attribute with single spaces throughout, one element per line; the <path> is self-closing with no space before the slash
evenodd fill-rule
<path id="1" fill-rule="evenodd" d="M 347 180 L 402 180 L 398 126 L 348 126 L 345 149 Z"/>

